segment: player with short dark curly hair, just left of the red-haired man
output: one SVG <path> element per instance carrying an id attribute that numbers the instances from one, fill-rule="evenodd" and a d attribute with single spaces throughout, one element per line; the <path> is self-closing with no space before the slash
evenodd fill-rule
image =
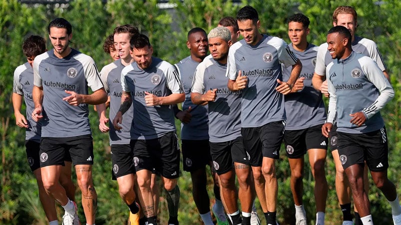
<path id="1" fill-rule="evenodd" d="M 284 97 L 287 114 L 284 143 L 291 168 L 291 191 L 297 225 L 307 225 L 303 206 L 304 155 L 308 152 L 315 178 L 316 224 L 324 224 L 328 185 L 325 173 L 327 138 L 321 130 L 326 120 L 322 93 L 312 86 L 318 47 L 308 43 L 309 18 L 301 13 L 288 19 L 289 48 L 302 63 L 300 78 L 292 92 Z M 283 79 L 290 78 L 290 68 L 283 67 Z M 298 86 L 300 84 L 300 87 Z M 303 85 L 302 85 L 303 84 Z"/>

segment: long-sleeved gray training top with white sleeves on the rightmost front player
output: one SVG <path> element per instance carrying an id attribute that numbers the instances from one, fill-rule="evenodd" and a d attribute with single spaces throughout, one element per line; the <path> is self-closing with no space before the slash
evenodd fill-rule
<path id="1" fill-rule="evenodd" d="M 352 52 L 346 59 L 333 60 L 326 69 L 330 93 L 328 122 L 337 112 L 337 131 L 368 133 L 385 123 L 380 110 L 394 97 L 394 90 L 375 61 Z M 351 113 L 364 112 L 366 122 L 358 127 Z"/>

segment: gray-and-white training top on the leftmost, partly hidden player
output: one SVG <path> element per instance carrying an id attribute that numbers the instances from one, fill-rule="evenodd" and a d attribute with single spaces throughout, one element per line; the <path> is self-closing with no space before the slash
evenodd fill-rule
<path id="1" fill-rule="evenodd" d="M 33 69 L 28 62 L 19 65 L 14 71 L 14 83 L 12 92 L 18 95 L 23 95 L 23 100 L 26 105 L 26 122 L 28 128 L 25 131 L 25 140 L 33 140 L 40 142 L 40 123 L 36 123 L 32 119 L 30 113 L 33 112 L 35 106 L 32 100 L 33 88 Z"/>

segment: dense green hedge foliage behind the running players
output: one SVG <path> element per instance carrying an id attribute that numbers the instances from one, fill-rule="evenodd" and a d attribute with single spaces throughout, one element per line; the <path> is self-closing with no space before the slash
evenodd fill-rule
<path id="1" fill-rule="evenodd" d="M 103 3 L 102 3 L 103 2 Z M 17 0 L 0 0 L 0 224 L 46 224 L 38 200 L 36 182 L 26 162 L 24 130 L 15 125 L 11 106 L 12 75 L 14 69 L 25 62 L 21 51 L 24 38 L 31 34 L 47 37 L 47 24 L 55 17 L 64 17 L 73 26 L 71 46 L 93 57 L 98 68 L 108 64 L 110 58 L 102 51 L 105 37 L 117 25 L 131 23 L 146 33 L 154 46 L 154 55 L 170 63 L 176 63 L 189 55 L 186 48 L 186 33 L 198 26 L 209 31 L 223 16 L 234 16 L 238 9 L 251 4 L 259 11 L 261 31 L 282 37 L 289 42 L 286 19 L 302 12 L 311 19 L 309 42 L 320 45 L 325 42 L 326 32 L 332 26 L 332 12 L 339 5 L 352 5 L 359 18 L 357 34 L 373 39 L 378 44 L 396 91 L 394 100 L 382 111 L 386 120 L 389 147 L 389 177 L 398 186 L 401 174 L 401 1 L 399 0 L 242 0 L 240 4 L 231 0 L 171 0 L 174 9 L 162 9 L 157 0 L 72 0 L 70 4 L 22 4 Z M 48 48 L 51 48 L 48 42 Z M 112 182 L 111 160 L 107 134 L 98 131 L 95 112 L 90 112 L 95 146 L 94 182 L 98 193 L 96 224 L 126 223 L 128 210 L 118 195 L 116 182 Z M 179 126 L 178 126 L 179 127 Z M 179 132 L 179 131 L 178 131 Z M 285 151 L 277 163 L 279 178 L 278 220 L 282 224 L 294 223 L 294 203 L 290 191 L 290 170 Z M 308 161 L 308 160 L 306 160 Z M 314 180 L 305 166 L 304 205 L 310 224 L 315 224 Z M 75 179 L 75 178 L 74 178 Z M 341 224 L 342 213 L 335 194 L 335 166 L 330 152 L 327 159 L 329 197 L 326 223 Z M 210 184 L 212 183 L 209 180 Z M 191 196 L 191 181 L 183 172 L 179 179 L 181 189 L 179 221 L 183 225 L 201 224 L 199 214 Z M 212 188 L 210 186 L 212 201 Z M 77 190 L 77 200 L 80 199 Z M 391 209 L 385 197 L 371 182 L 369 199 L 376 223 L 392 224 Z M 79 201 L 78 201 L 79 202 Z M 61 217 L 62 209 L 58 207 Z M 263 217 L 259 210 L 260 216 Z M 84 220 L 80 210 L 81 221 Z M 160 222 L 168 220 L 167 207 L 161 195 Z M 262 220 L 263 221 L 263 220 Z"/>

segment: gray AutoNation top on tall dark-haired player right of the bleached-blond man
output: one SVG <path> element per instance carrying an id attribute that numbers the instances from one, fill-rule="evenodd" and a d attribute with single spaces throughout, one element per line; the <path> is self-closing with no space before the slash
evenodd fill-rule
<path id="1" fill-rule="evenodd" d="M 242 127 L 286 119 L 283 95 L 276 91 L 277 79 L 283 80 L 281 63 L 290 66 L 297 60 L 286 42 L 273 36 L 263 35 L 255 46 L 242 39 L 230 47 L 226 76 L 235 80 L 241 70 L 242 76 L 248 77 L 241 99 Z"/>

